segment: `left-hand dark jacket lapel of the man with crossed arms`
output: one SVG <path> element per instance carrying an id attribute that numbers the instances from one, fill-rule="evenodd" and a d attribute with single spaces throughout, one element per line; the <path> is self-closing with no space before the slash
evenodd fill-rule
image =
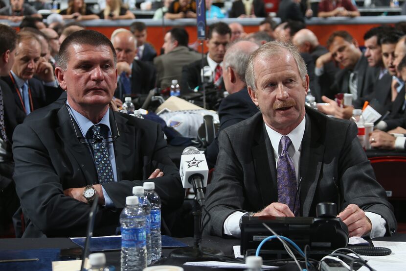
<path id="1" fill-rule="evenodd" d="M 58 111 L 58 120 L 60 124 L 56 128 L 56 133 L 64 142 L 66 146 L 65 151 L 70 152 L 76 160 L 79 168 L 85 176 L 87 184 L 98 183 L 97 172 L 94 166 L 94 161 L 91 158 L 90 150 L 85 144 L 80 143 L 76 138 L 75 130 L 73 129 L 68 109 L 65 105 L 63 105 Z M 76 123 L 75 125 L 78 135 L 81 136 L 79 127 Z M 75 172 L 73 172 L 73 174 L 75 174 Z"/>

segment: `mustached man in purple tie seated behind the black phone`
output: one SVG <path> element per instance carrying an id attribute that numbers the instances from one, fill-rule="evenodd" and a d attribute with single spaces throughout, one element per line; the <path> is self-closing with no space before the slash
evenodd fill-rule
<path id="1" fill-rule="evenodd" d="M 207 233 L 239 236 L 242 216 L 316 216 L 323 201 L 338 203 L 350 236 L 394 233 L 393 207 L 355 123 L 305 107 L 309 76 L 297 48 L 264 44 L 249 58 L 246 81 L 261 112 L 220 134 L 206 191 Z"/>

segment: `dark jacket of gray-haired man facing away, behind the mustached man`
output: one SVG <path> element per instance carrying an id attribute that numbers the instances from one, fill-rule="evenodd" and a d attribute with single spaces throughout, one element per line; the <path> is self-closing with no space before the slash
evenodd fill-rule
<path id="1" fill-rule="evenodd" d="M 258 107 L 249 97 L 247 87 L 228 95 L 222 100 L 219 107 L 220 129 L 219 132 L 235 123 L 247 120 L 258 112 Z M 216 139 L 206 149 L 206 159 L 209 168 L 216 164 L 219 154 L 219 139 Z"/>

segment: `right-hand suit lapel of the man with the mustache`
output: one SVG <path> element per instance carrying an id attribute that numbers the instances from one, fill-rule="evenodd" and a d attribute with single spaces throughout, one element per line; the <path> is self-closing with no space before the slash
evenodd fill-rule
<path id="1" fill-rule="evenodd" d="M 308 216 L 315 196 L 317 183 L 323 162 L 324 145 L 319 143 L 318 128 L 321 123 L 311 120 L 306 114 L 306 128 L 302 140 L 300 155 L 299 195 L 302 216 Z"/>

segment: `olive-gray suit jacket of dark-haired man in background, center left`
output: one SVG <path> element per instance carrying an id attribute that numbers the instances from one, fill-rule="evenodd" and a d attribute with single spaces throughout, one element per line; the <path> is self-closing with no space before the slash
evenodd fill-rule
<path id="1" fill-rule="evenodd" d="M 182 79 L 182 67 L 202 58 L 202 54 L 191 51 L 185 46 L 178 46 L 169 53 L 162 54 L 154 59 L 157 68 L 157 86 L 161 89 L 171 86 L 173 79 L 178 83 Z"/>

